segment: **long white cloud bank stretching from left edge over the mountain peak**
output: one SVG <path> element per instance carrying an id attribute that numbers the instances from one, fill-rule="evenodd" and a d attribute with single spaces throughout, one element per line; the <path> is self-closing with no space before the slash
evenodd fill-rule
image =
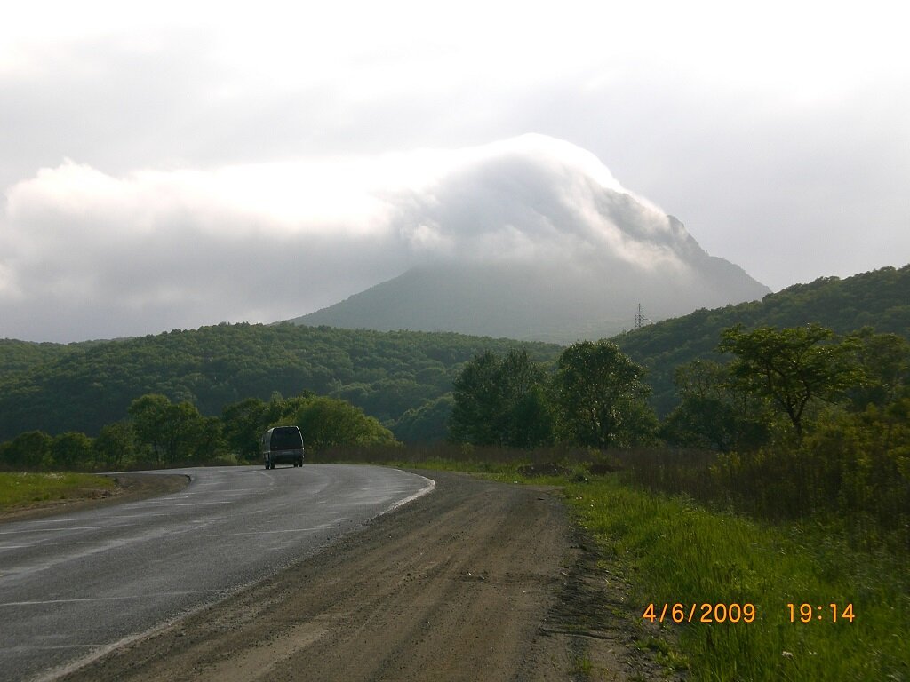
<path id="1" fill-rule="evenodd" d="M 66 160 L 6 193 L 0 336 L 73 340 L 298 316 L 411 266 L 677 266 L 660 209 L 542 135 L 123 176 Z"/>

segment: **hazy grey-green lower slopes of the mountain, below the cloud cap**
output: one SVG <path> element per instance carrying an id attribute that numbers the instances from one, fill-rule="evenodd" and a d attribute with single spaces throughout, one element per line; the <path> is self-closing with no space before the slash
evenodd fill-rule
<path id="1" fill-rule="evenodd" d="M 289 321 L 381 331 L 457 331 L 569 344 L 631 328 L 639 302 L 649 317 L 660 319 L 699 305 L 751 300 L 768 292 L 721 258 L 706 256 L 705 261 L 703 279 L 698 282 L 663 273 L 632 281 L 622 277 L 622 271 L 595 278 L 545 264 L 417 267 Z"/>

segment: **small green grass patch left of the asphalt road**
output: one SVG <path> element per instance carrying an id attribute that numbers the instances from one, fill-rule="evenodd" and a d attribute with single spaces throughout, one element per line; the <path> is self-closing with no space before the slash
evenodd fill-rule
<path id="1" fill-rule="evenodd" d="M 113 479 L 91 474 L 0 473 L 0 511 L 61 499 L 97 497 L 115 487 Z"/>

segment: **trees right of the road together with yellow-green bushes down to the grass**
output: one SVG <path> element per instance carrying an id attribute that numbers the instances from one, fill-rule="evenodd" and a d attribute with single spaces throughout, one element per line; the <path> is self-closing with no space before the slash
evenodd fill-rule
<path id="1" fill-rule="evenodd" d="M 518 349 L 484 353 L 455 380 L 450 436 L 601 452 L 657 446 L 622 456 L 634 480 L 758 516 L 851 517 L 868 524 L 864 537 L 885 531 L 910 547 L 905 338 L 736 325 L 714 348 L 715 358 L 677 367 L 678 404 L 663 420 L 647 400 L 645 370 L 609 341 L 569 346 L 553 366 Z M 654 459 L 661 448 L 672 471 Z M 677 456 L 677 448 L 716 455 Z"/>

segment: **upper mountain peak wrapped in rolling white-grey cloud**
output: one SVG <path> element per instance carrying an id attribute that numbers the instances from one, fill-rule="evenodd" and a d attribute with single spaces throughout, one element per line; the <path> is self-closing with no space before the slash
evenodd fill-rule
<path id="1" fill-rule="evenodd" d="M 389 197 L 415 256 L 681 266 L 682 225 L 625 190 L 594 155 L 545 135 L 465 150 L 432 182 Z M 700 251 L 700 249 L 697 249 Z"/>

